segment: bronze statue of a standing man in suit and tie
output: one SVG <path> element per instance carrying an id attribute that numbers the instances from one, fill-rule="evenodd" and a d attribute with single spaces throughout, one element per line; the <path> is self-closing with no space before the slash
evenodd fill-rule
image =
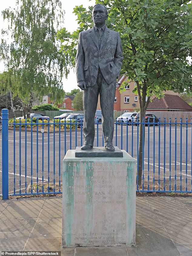
<path id="1" fill-rule="evenodd" d="M 93 7 L 91 19 L 94 26 L 79 34 L 75 61 L 78 87 L 83 90 L 84 145 L 81 149 L 89 150 L 93 147 L 94 116 L 100 94 L 104 146 L 106 150 L 114 151 L 113 111 L 116 79 L 123 61 L 121 38 L 118 32 L 105 25 L 108 12 L 104 5 Z"/>

